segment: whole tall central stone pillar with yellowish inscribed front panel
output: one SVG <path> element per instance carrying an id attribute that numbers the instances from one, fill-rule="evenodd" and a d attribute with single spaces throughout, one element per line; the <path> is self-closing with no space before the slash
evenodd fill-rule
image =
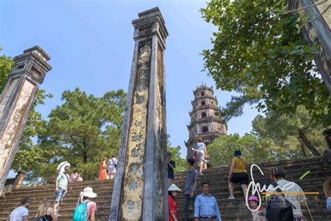
<path id="1" fill-rule="evenodd" d="M 135 48 L 109 220 L 168 220 L 165 78 L 159 8 L 133 20 Z"/>

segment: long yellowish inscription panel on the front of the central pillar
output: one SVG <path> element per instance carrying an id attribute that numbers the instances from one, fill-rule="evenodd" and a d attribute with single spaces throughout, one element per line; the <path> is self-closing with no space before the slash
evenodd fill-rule
<path id="1" fill-rule="evenodd" d="M 128 133 L 128 159 L 124 172 L 126 173 L 123 190 L 125 197 L 122 202 L 124 220 L 137 220 L 142 215 L 150 58 L 151 43 L 141 44 L 133 92 L 131 125 Z"/>

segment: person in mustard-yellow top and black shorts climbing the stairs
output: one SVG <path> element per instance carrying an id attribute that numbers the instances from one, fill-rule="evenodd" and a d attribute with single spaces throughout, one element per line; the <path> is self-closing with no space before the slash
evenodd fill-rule
<path id="1" fill-rule="evenodd" d="M 230 165 L 228 179 L 230 191 L 230 196 L 228 197 L 228 199 L 235 199 L 235 197 L 233 196 L 233 190 L 235 188 L 235 184 L 237 183 L 240 183 L 240 185 L 242 185 L 242 191 L 244 192 L 244 197 L 246 199 L 249 176 L 246 170 L 246 159 L 242 157 L 242 152 L 240 150 L 235 150 L 235 157 L 233 158 Z"/>

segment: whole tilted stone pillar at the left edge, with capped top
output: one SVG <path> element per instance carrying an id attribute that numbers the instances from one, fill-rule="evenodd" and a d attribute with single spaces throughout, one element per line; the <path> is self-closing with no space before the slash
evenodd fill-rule
<path id="1" fill-rule="evenodd" d="M 38 86 L 52 68 L 50 59 L 38 46 L 14 57 L 14 69 L 0 96 L 0 195 L 34 102 Z"/>

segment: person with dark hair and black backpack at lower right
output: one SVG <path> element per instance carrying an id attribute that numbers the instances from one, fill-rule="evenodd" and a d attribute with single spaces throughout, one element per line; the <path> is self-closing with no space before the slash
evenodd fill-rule
<path id="1" fill-rule="evenodd" d="M 306 198 L 299 185 L 285 179 L 286 171 L 281 166 L 271 170 L 271 178 L 274 181 L 268 188 L 267 194 L 267 218 L 269 221 L 294 220 L 304 221 L 301 206 L 307 206 Z M 282 194 L 275 194 L 281 192 Z M 286 194 L 289 192 L 289 194 Z"/>

